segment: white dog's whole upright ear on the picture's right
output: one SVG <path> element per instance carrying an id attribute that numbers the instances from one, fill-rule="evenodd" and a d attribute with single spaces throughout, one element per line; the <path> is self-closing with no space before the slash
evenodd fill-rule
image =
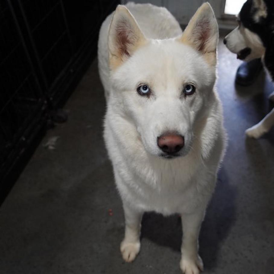
<path id="1" fill-rule="evenodd" d="M 178 39 L 201 53 L 206 61 L 216 65 L 218 24 L 209 3 L 204 3 L 193 15 L 182 36 Z"/>

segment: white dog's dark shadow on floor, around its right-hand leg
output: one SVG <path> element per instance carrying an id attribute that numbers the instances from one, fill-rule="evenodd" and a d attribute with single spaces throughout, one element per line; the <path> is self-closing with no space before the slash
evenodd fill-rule
<path id="1" fill-rule="evenodd" d="M 218 260 L 219 247 L 228 236 L 236 218 L 236 189 L 229 184 L 224 169 L 218 174 L 218 183 L 203 221 L 199 253 L 206 269 L 213 269 Z M 145 213 L 141 238 L 177 252 L 181 249 L 182 226 L 179 215 L 163 217 L 154 212 Z"/>

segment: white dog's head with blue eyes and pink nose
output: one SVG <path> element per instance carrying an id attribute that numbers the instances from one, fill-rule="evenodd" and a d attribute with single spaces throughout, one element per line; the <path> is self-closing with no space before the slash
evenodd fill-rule
<path id="1" fill-rule="evenodd" d="M 109 104 L 134 125 L 152 155 L 174 158 L 190 151 L 214 97 L 217 41 L 209 4 L 180 37 L 166 40 L 147 39 L 126 7 L 117 7 L 108 38 Z"/>

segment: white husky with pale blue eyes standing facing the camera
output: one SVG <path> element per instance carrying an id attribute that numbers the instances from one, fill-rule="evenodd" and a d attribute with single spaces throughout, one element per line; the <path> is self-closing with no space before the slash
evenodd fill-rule
<path id="1" fill-rule="evenodd" d="M 107 98 L 104 138 L 123 201 L 131 262 L 145 211 L 179 213 L 180 267 L 203 269 L 198 236 L 225 147 L 216 80 L 217 22 L 203 4 L 182 33 L 165 9 L 119 5 L 103 23 L 99 72 Z"/>

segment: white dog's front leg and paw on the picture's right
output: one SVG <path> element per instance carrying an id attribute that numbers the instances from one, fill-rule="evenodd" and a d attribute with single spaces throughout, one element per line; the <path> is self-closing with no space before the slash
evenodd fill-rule
<path id="1" fill-rule="evenodd" d="M 204 218 L 204 209 L 193 214 L 182 214 L 183 240 L 180 267 L 185 274 L 199 274 L 203 270 L 203 262 L 198 254 L 199 232 Z"/>

